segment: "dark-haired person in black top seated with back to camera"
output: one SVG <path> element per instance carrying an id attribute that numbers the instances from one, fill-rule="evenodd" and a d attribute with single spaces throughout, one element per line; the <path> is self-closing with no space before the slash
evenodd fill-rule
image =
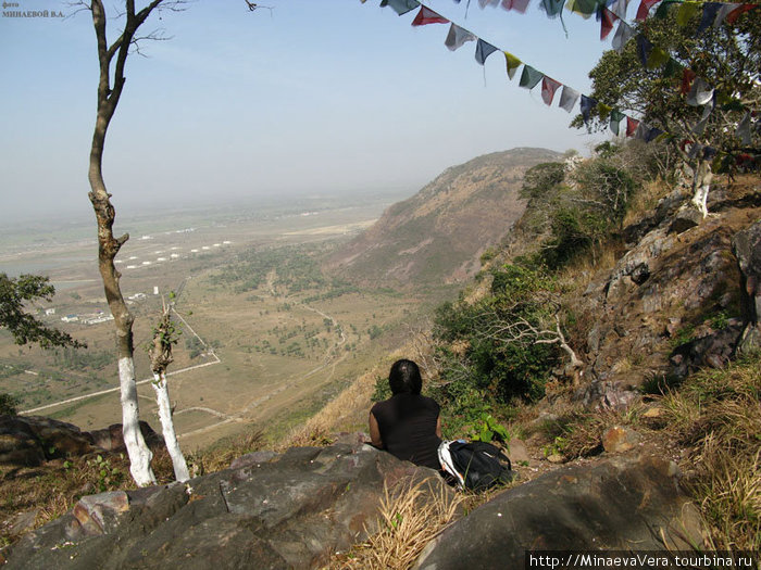
<path id="1" fill-rule="evenodd" d="M 439 405 L 422 396 L 420 368 L 412 360 L 397 360 L 388 375 L 394 394 L 370 410 L 370 439 L 373 445 L 415 465 L 441 469 Z"/>

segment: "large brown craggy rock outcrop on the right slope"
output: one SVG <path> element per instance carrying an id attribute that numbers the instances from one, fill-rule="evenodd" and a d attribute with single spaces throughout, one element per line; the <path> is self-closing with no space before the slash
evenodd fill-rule
<path id="1" fill-rule="evenodd" d="M 704 220 L 689 223 L 685 197 L 674 192 L 623 231 L 629 250 L 610 274 L 590 283 L 582 302 L 594 317 L 585 372 L 594 381 L 576 400 L 616 407 L 621 398 L 602 395 L 611 387 L 626 392 L 656 378 L 722 367 L 734 355 L 743 322 L 753 319 L 751 305 L 761 306 L 758 277 L 746 277 L 744 269 L 759 265 L 761 231 L 748 228 L 758 211 L 726 205 L 744 203 L 743 197 L 729 197 L 726 189 L 716 194 L 721 201 L 709 205 L 721 213 Z M 751 344 L 761 339 L 753 332 L 758 326 L 746 330 Z"/>

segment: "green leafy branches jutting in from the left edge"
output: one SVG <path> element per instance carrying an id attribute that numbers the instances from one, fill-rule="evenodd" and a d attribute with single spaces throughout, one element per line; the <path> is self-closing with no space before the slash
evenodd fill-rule
<path id="1" fill-rule="evenodd" d="M 53 346 L 85 346 L 68 333 L 47 327 L 27 313 L 24 305 L 38 300 L 50 301 L 55 288 L 47 277 L 0 274 L 0 326 L 8 327 L 16 344 L 37 343 L 42 349 Z"/>

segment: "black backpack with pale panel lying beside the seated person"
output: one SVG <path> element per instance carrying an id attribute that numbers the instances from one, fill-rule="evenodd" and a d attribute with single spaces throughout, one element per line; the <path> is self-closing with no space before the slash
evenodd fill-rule
<path id="1" fill-rule="evenodd" d="M 515 477 L 508 456 L 490 443 L 445 441 L 438 456 L 441 468 L 457 479 L 460 489 L 485 491 Z"/>

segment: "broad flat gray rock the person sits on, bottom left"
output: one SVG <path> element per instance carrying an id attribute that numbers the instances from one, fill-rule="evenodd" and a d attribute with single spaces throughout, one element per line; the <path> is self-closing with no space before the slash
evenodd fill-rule
<path id="1" fill-rule="evenodd" d="M 16 543 L 7 568 L 315 568 L 377 528 L 385 487 L 427 480 L 452 492 L 436 471 L 362 444 L 259 452 L 236 465 L 84 497 Z"/>

